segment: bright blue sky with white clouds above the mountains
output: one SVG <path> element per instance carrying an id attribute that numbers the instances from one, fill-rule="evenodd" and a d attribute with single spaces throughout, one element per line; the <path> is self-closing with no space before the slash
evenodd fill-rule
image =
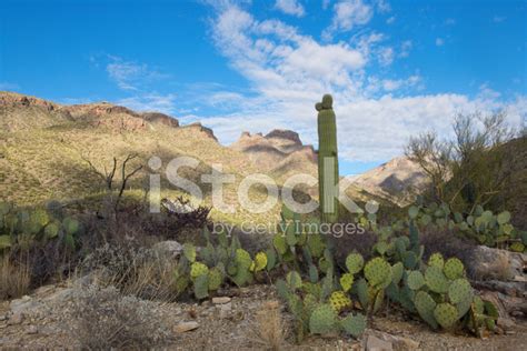
<path id="1" fill-rule="evenodd" d="M 457 112 L 527 113 L 525 1 L 0 2 L 0 90 L 201 121 L 220 141 L 288 128 L 315 143 L 335 97 L 342 173 Z"/>

